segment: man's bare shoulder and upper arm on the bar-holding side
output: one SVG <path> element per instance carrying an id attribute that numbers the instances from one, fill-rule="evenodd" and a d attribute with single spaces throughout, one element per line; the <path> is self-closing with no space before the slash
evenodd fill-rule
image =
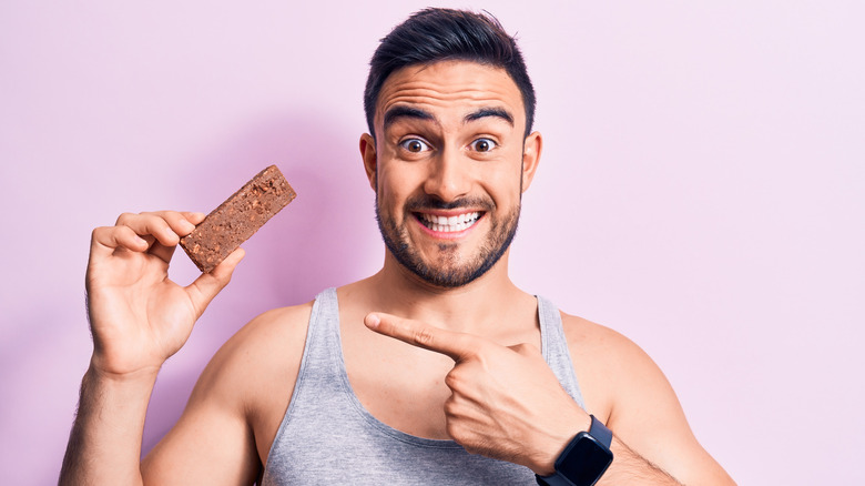
<path id="1" fill-rule="evenodd" d="M 142 462 L 145 484 L 256 479 L 291 401 L 311 313 L 312 303 L 268 311 L 220 348 L 183 415 Z"/>

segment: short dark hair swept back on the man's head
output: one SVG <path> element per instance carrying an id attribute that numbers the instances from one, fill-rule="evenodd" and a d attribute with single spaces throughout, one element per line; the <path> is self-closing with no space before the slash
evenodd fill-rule
<path id="1" fill-rule="evenodd" d="M 381 39 L 369 61 L 364 90 L 364 111 L 369 133 L 375 136 L 376 103 L 387 77 L 413 64 L 445 60 L 474 61 L 502 68 L 522 94 L 526 107 L 526 135 L 535 120 L 535 88 L 517 41 L 505 32 L 489 12 L 475 13 L 452 9 L 425 9 L 395 27 Z"/>

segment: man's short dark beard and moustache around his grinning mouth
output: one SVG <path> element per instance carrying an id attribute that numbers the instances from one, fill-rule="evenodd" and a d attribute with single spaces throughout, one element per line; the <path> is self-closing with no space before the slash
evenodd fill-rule
<path id="1" fill-rule="evenodd" d="M 420 210 L 452 210 L 457 207 L 482 209 L 484 216 L 490 219 L 490 230 L 476 255 L 460 261 L 459 243 L 439 243 L 439 256 L 434 262 L 424 262 L 420 254 L 411 246 L 408 236 L 409 219 Z M 397 222 L 389 214 L 383 214 L 376 195 L 376 220 L 385 246 L 404 267 L 423 281 L 442 288 L 461 287 L 480 277 L 490 270 L 510 246 L 517 234 L 517 223 L 520 216 L 520 204 L 505 215 L 503 219 L 492 219 L 496 205 L 490 200 L 461 199 L 445 203 L 428 195 L 409 199 L 405 205 L 404 219 Z"/>

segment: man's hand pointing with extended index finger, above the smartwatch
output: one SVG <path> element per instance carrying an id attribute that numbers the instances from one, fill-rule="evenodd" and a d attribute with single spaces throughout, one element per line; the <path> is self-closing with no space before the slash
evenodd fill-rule
<path id="1" fill-rule="evenodd" d="M 448 434 L 466 450 L 550 474 L 556 457 L 589 415 L 561 387 L 537 347 L 502 346 L 485 337 L 384 313 L 364 320 L 370 330 L 449 356 L 445 377 Z"/>

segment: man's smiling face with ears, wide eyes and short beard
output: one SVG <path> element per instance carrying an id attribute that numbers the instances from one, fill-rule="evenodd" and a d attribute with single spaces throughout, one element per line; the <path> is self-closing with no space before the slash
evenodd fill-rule
<path id="1" fill-rule="evenodd" d="M 540 151 L 538 134 L 523 139 L 525 122 L 520 91 L 502 69 L 441 61 L 385 81 L 376 145 L 367 136 L 362 151 L 379 229 L 401 265 L 456 287 L 499 261 Z"/>

